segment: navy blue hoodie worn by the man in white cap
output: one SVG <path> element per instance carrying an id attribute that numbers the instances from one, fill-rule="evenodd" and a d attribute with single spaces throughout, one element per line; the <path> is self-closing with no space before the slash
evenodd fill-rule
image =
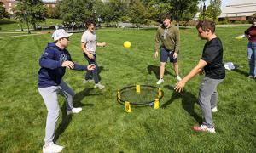
<path id="1" fill-rule="evenodd" d="M 55 43 L 48 43 L 39 59 L 41 66 L 38 71 L 38 87 L 45 88 L 50 86 L 58 86 L 65 74 L 66 67 L 62 67 L 64 61 L 72 61 L 67 49 L 61 49 Z M 74 64 L 73 70 L 86 71 L 86 65 Z"/>

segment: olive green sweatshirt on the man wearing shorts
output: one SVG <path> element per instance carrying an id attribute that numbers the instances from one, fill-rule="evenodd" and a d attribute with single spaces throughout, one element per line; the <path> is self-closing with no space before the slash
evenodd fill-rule
<path id="1" fill-rule="evenodd" d="M 160 47 L 164 47 L 168 50 L 175 51 L 179 50 L 179 30 L 177 26 L 170 25 L 168 28 L 159 27 L 155 35 L 155 51 L 159 52 Z"/>

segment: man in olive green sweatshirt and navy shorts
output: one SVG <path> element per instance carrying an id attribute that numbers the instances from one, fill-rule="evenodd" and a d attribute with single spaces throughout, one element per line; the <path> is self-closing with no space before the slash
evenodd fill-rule
<path id="1" fill-rule="evenodd" d="M 162 17 L 162 20 L 163 26 L 160 26 L 157 29 L 155 36 L 154 58 L 158 57 L 160 50 L 160 79 L 158 82 L 156 82 L 156 84 L 158 85 L 164 82 L 163 77 L 165 73 L 165 65 L 168 58 L 170 58 L 170 62 L 173 63 L 176 79 L 178 81 L 181 80 L 181 77 L 178 76 L 177 65 L 177 53 L 180 43 L 179 30 L 177 29 L 177 26 L 172 25 L 171 16 L 169 14 L 165 14 Z"/>

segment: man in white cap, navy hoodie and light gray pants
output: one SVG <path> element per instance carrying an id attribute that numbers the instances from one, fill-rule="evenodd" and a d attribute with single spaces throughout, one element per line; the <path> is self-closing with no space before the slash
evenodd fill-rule
<path id="1" fill-rule="evenodd" d="M 58 94 L 63 94 L 67 103 L 67 115 L 79 113 L 82 108 L 73 107 L 72 88 L 62 80 L 66 67 L 71 70 L 87 71 L 94 70 L 95 65 L 77 65 L 73 63 L 70 54 L 67 51 L 69 37 L 72 34 L 63 29 L 56 30 L 52 37 L 54 43 L 49 43 L 39 59 L 41 66 L 38 71 L 38 91 L 44 99 L 48 115 L 45 127 L 45 138 L 43 152 L 61 152 L 63 146 L 56 145 L 53 142 L 55 136 L 55 125 L 59 117 L 60 106 L 58 104 Z"/>

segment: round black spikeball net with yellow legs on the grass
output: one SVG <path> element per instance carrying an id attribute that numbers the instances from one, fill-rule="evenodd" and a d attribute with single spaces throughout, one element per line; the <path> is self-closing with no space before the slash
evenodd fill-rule
<path id="1" fill-rule="evenodd" d="M 125 105 L 125 111 L 131 112 L 131 105 L 151 106 L 159 108 L 160 99 L 164 96 L 164 91 L 160 88 L 149 85 L 136 85 L 122 88 L 117 93 L 117 100 Z"/>

